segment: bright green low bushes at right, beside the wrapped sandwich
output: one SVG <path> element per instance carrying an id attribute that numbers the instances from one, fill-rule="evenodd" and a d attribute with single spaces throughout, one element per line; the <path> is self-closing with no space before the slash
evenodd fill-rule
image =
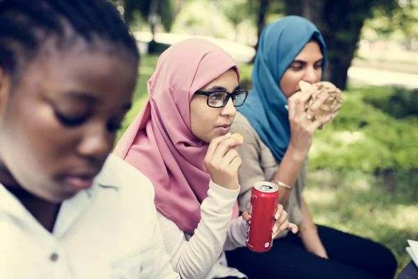
<path id="1" fill-rule="evenodd" d="M 369 104 L 371 96 L 379 96 L 392 110 L 392 91 L 373 86 L 349 89 L 339 116 L 316 133 L 310 167 L 363 172 L 418 169 L 418 116 L 396 119 Z"/>

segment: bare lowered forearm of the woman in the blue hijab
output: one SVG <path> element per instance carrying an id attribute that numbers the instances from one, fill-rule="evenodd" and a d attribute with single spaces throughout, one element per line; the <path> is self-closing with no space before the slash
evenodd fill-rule
<path id="1" fill-rule="evenodd" d="M 304 243 L 305 248 L 308 252 L 311 252 L 318 257 L 328 258 L 327 251 L 325 250 L 322 241 L 318 236 L 316 226 L 312 222 L 311 215 L 309 214 L 307 204 L 302 198 L 302 218 L 303 221 L 300 224 L 300 235 L 302 237 L 302 242 Z"/>

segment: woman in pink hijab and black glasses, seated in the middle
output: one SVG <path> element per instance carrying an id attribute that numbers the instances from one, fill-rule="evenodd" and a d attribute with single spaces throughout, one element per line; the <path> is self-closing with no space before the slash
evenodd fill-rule
<path id="1" fill-rule="evenodd" d="M 240 157 L 229 128 L 247 91 L 229 54 L 201 39 L 184 40 L 158 59 L 144 110 L 114 153 L 146 174 L 155 188 L 171 264 L 181 278 L 245 278 L 223 250 L 245 246 L 238 218 Z M 297 227 L 280 206 L 274 233 Z"/>

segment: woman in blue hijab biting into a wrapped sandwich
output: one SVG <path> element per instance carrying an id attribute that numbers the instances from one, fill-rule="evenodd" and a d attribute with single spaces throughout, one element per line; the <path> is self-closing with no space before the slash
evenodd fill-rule
<path id="1" fill-rule="evenodd" d="M 251 75 L 253 89 L 240 107 L 231 132 L 245 142 L 238 147 L 240 211 L 248 211 L 256 181 L 279 185 L 279 203 L 300 235 L 279 234 L 272 250 L 227 252 L 229 266 L 249 278 L 393 278 L 396 259 L 384 246 L 329 227 L 316 226 L 302 198 L 307 154 L 316 129 L 330 116 L 312 121 L 327 92 L 305 111 L 314 87 L 301 93 L 299 82 L 319 82 L 326 61 L 324 40 L 314 24 L 288 16 L 263 31 Z M 298 92 L 299 91 L 299 92 Z"/>

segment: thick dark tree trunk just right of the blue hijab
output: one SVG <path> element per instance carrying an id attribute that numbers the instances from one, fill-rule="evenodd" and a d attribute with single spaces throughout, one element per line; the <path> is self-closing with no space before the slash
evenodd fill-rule
<path id="1" fill-rule="evenodd" d="M 353 60 L 364 20 L 372 1 L 286 0 L 286 13 L 311 20 L 327 45 L 324 80 L 346 89 L 347 72 Z"/>

